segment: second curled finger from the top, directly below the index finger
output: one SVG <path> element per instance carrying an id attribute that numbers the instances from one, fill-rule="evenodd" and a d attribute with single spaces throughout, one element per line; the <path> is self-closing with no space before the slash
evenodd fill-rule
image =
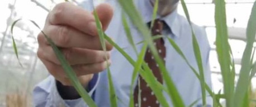
<path id="1" fill-rule="evenodd" d="M 44 29 L 53 42 L 63 48 L 78 47 L 86 49 L 102 50 L 99 37 L 93 37 L 68 26 L 50 25 Z M 106 49 L 111 50 L 112 45 L 106 43 Z"/>

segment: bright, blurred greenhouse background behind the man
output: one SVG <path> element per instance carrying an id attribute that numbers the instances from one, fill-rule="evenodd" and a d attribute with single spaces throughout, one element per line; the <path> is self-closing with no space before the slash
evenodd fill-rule
<path id="1" fill-rule="evenodd" d="M 72 0 L 74 4 L 81 4 L 84 0 Z M 95 4 L 104 0 L 96 0 Z M 41 28 L 44 27 L 45 18 L 57 3 L 64 0 L 3 0 L 0 3 L 0 107 L 12 102 L 27 102 L 24 106 L 31 106 L 33 87 L 49 75 L 46 68 L 38 60 L 36 27 L 27 22 L 19 22 L 15 26 L 14 36 L 23 68 L 18 64 L 12 48 L 10 26 L 18 18 L 31 19 Z M 209 43 L 210 68 L 213 90 L 218 93 L 223 89 L 220 67 L 215 51 L 215 22 L 214 1 L 212 0 L 186 0 L 191 21 L 205 28 Z M 249 19 L 250 10 L 254 0 L 226 0 L 226 14 L 229 32 L 229 42 L 233 50 L 237 74 L 240 71 L 240 60 L 245 48 L 245 27 Z M 180 4 L 179 4 L 180 5 Z M 185 16 L 181 6 L 178 13 Z M 254 45 L 256 47 L 256 45 Z M 254 57 L 255 58 L 255 57 Z M 250 97 L 256 99 L 256 78 L 253 78 L 252 93 Z M 252 103 L 251 106 L 255 106 Z M 9 105 L 23 106 L 23 105 Z"/>

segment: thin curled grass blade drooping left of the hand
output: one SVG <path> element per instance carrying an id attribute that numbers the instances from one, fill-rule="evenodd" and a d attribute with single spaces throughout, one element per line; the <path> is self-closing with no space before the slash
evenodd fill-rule
<path id="1" fill-rule="evenodd" d="M 12 33 L 12 45 L 13 45 L 13 49 L 14 49 L 14 51 L 15 51 L 15 55 L 16 55 L 16 57 L 17 57 L 17 59 L 18 59 L 18 63 L 21 65 L 21 67 L 23 67 L 22 64 L 21 64 L 21 62 L 20 62 L 20 59 L 18 58 L 18 49 L 17 49 L 17 46 L 16 46 L 15 39 L 14 39 L 14 37 L 13 37 L 13 27 L 14 27 L 15 24 L 16 24 L 18 21 L 20 21 L 20 20 L 21 20 L 21 19 L 17 19 L 15 22 L 12 23 L 12 26 L 11 26 L 11 33 Z"/>

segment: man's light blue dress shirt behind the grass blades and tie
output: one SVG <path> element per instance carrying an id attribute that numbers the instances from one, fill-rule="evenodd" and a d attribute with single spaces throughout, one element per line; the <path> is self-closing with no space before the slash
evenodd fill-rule
<path id="1" fill-rule="evenodd" d="M 81 4 L 85 9 L 92 10 L 90 1 L 85 1 Z M 113 40 L 122 47 L 134 60 L 137 59 L 136 53 L 129 44 L 125 31 L 122 26 L 121 9 L 116 0 L 107 0 L 109 4 L 114 7 L 114 16 L 112 22 L 106 31 Z M 149 0 L 134 0 L 134 4 L 141 12 L 145 23 L 148 23 L 152 19 L 153 7 L 149 3 Z M 177 45 L 180 47 L 182 52 L 185 54 L 189 63 L 197 68 L 196 59 L 194 57 L 192 47 L 192 35 L 189 23 L 187 19 L 177 14 L 177 10 L 168 14 L 166 17 L 159 17 L 162 21 L 165 21 L 167 26 L 163 29 L 163 34 L 171 37 Z M 136 27 L 129 23 L 131 28 L 132 36 L 135 43 L 143 40 L 142 35 L 138 33 Z M 211 86 L 211 76 L 209 68 L 209 52 L 210 45 L 208 43 L 204 28 L 198 27 L 193 24 L 193 28 L 196 34 L 197 41 L 199 42 L 202 64 L 204 65 L 205 80 L 206 83 Z M 185 105 L 190 105 L 195 100 L 201 98 L 201 87 L 200 81 L 196 78 L 190 67 L 180 57 L 180 55 L 173 49 L 171 44 L 166 38 L 166 68 L 172 77 L 173 82 L 176 85 Z M 137 45 L 138 49 L 142 48 L 142 44 Z M 118 97 L 118 107 L 127 107 L 129 105 L 129 89 L 131 87 L 131 79 L 133 73 L 132 65 L 123 57 L 118 50 L 113 49 L 111 53 L 112 65 L 110 67 L 115 92 Z M 164 83 L 165 85 L 165 83 Z M 133 86 L 133 88 L 135 85 Z M 110 107 L 109 91 L 108 91 L 108 78 L 107 72 L 102 72 L 97 75 L 89 83 L 89 95 L 94 99 L 95 103 L 99 107 Z M 164 93 L 170 106 L 172 106 L 171 99 L 166 93 Z M 37 107 L 44 106 L 70 106 L 70 107 L 85 107 L 88 106 L 84 103 L 83 99 L 75 100 L 64 100 L 59 95 L 56 89 L 56 81 L 54 77 L 49 76 L 44 81 L 39 83 L 33 91 L 33 102 Z M 211 98 L 207 98 L 207 104 L 211 106 Z M 201 106 L 199 101 L 195 106 Z"/>

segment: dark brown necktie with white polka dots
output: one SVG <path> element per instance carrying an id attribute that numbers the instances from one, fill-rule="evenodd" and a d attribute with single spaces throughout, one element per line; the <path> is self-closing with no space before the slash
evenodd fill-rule
<path id="1" fill-rule="evenodd" d="M 152 22 L 151 22 L 152 23 Z M 163 21 L 160 21 L 159 19 L 156 19 L 154 21 L 153 27 L 151 29 L 152 35 L 161 35 L 162 29 L 163 29 Z M 158 53 L 160 56 L 165 59 L 166 57 L 166 48 L 164 45 L 163 39 L 156 39 L 154 40 L 154 45 L 156 45 L 156 48 L 158 50 Z M 154 76 L 157 78 L 160 83 L 163 83 L 162 75 L 160 72 L 160 69 L 158 68 L 158 65 L 156 61 L 153 58 L 153 55 L 151 54 L 150 50 L 147 49 L 146 55 L 144 57 L 145 62 L 148 64 L 149 68 L 151 68 Z M 156 96 L 154 95 L 153 91 L 149 88 L 146 81 L 143 80 L 143 78 L 139 75 L 138 77 L 139 83 L 137 83 L 136 88 L 134 89 L 134 106 L 137 107 L 138 105 L 138 88 L 141 89 L 141 107 L 158 107 L 160 106 L 159 102 L 157 101 Z M 140 86 L 138 86 L 140 85 Z"/>

